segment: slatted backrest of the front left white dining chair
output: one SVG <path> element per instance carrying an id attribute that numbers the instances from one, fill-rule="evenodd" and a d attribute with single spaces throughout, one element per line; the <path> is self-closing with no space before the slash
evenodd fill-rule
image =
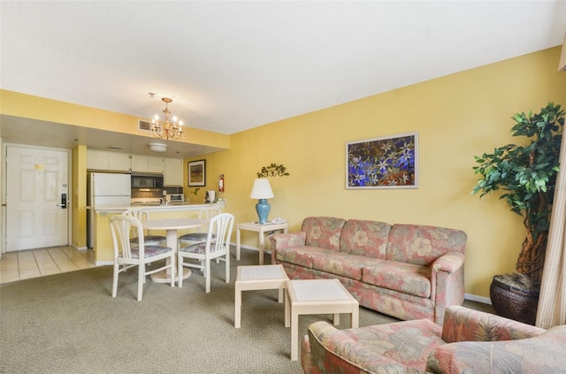
<path id="1" fill-rule="evenodd" d="M 128 215 L 115 215 L 110 218 L 110 230 L 114 244 L 114 256 L 132 259 L 132 233 L 139 238 L 138 248 L 134 251 L 142 261 L 144 256 L 143 227 L 139 219 Z"/>

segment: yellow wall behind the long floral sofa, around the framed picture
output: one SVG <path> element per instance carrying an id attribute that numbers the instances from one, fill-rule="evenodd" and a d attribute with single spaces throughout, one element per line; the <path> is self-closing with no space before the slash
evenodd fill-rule
<path id="1" fill-rule="evenodd" d="M 488 297 L 493 275 L 514 270 L 524 228 L 497 195 L 470 195 L 473 156 L 514 141 L 513 113 L 539 111 L 548 102 L 566 106 L 559 57 L 558 47 L 543 50 L 234 134 L 229 150 L 198 157 L 206 159 L 207 187 L 197 198 L 202 202 L 203 191 L 216 189 L 224 173 L 226 211 L 237 222 L 252 221 L 256 172 L 283 164 L 290 176 L 270 179 L 270 219 L 287 218 L 291 231 L 317 215 L 462 229 L 465 292 Z M 419 133 L 417 189 L 345 188 L 346 142 L 413 131 Z M 243 232 L 242 241 L 256 247 L 256 233 Z"/>

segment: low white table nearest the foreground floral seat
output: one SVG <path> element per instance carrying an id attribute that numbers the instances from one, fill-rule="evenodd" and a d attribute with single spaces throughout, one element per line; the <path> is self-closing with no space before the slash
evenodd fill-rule
<path id="1" fill-rule="evenodd" d="M 350 326 L 360 321 L 359 304 L 338 279 L 287 280 L 285 327 L 291 325 L 291 360 L 298 359 L 299 315 L 333 314 L 333 323 L 340 324 L 340 313 L 350 314 Z"/>

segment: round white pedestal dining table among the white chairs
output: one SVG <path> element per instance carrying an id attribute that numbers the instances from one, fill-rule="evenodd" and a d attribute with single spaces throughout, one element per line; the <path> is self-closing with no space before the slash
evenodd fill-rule
<path id="1" fill-rule="evenodd" d="M 166 233 L 166 245 L 172 248 L 177 253 L 178 248 L 178 230 L 185 230 L 191 228 L 197 228 L 202 225 L 206 225 L 206 221 L 197 218 L 158 218 L 158 219 L 148 219 L 142 222 L 142 226 L 147 230 L 165 230 Z M 176 261 L 177 256 L 175 256 Z M 167 260 L 170 261 L 170 260 Z M 173 263 L 173 272 L 176 271 L 176 264 Z M 151 280 L 156 283 L 170 283 L 171 282 L 172 270 L 168 268 L 166 271 L 158 271 L 151 274 Z M 183 268 L 183 279 L 187 279 L 191 276 L 191 270 L 188 268 Z M 175 281 L 179 281 L 179 274 L 175 276 Z"/>

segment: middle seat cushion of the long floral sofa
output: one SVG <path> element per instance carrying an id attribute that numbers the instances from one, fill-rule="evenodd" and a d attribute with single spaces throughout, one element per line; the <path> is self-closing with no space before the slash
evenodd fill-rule
<path id="1" fill-rule="evenodd" d="M 311 253 L 312 267 L 333 275 L 340 275 L 349 279 L 362 280 L 362 269 L 378 263 L 377 258 L 348 255 L 345 253 Z"/>

